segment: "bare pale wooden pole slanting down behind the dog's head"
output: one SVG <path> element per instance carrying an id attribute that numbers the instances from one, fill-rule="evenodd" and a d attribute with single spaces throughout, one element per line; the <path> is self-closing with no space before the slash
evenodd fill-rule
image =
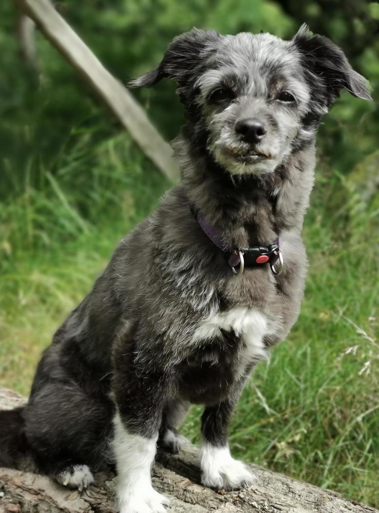
<path id="1" fill-rule="evenodd" d="M 50 43 L 79 71 L 158 169 L 170 180 L 177 181 L 179 171 L 172 158 L 170 145 L 162 139 L 130 92 L 102 66 L 49 0 L 14 2 L 20 11 L 33 19 Z"/>

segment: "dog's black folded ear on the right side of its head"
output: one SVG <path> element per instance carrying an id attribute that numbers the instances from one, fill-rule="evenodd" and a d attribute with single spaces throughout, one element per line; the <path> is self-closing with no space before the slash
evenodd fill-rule
<path id="1" fill-rule="evenodd" d="M 315 80 L 321 78 L 329 96 L 329 104 L 345 88 L 353 96 L 372 100 L 366 79 L 354 71 L 344 54 L 330 39 L 313 35 L 306 24 L 293 37 L 294 44 L 303 55 L 303 65 Z"/>

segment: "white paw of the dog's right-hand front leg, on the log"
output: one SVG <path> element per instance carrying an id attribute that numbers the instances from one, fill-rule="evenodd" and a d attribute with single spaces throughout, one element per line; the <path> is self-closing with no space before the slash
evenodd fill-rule
<path id="1" fill-rule="evenodd" d="M 231 457 L 228 447 L 204 443 L 200 458 L 201 482 L 204 486 L 235 490 L 245 488 L 257 479 L 242 461 Z"/>

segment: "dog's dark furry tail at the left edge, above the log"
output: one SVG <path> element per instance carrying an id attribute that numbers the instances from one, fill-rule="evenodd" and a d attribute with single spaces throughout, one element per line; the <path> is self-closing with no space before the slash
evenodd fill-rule
<path id="1" fill-rule="evenodd" d="M 23 410 L 0 411 L 0 467 L 15 467 L 28 450 Z"/>

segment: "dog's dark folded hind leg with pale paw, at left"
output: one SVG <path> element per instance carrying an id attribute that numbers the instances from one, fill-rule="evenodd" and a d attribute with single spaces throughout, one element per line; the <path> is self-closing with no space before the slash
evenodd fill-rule
<path id="1" fill-rule="evenodd" d="M 74 383 L 41 387 L 24 411 L 25 435 L 40 470 L 62 485 L 86 489 L 93 483 L 91 468 L 106 462 L 112 415 L 110 403 Z"/>

